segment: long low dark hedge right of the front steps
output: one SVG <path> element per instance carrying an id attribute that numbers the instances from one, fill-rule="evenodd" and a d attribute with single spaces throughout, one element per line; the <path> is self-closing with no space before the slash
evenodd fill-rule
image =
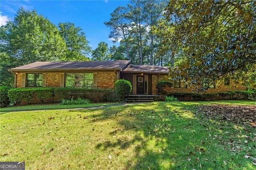
<path id="1" fill-rule="evenodd" d="M 169 93 L 179 101 L 217 101 L 217 100 L 252 100 L 256 101 L 256 91 L 230 91 L 219 93 Z"/>

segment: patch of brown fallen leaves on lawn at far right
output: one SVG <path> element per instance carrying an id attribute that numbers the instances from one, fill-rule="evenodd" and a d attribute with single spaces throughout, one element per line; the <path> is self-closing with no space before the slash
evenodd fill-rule
<path id="1" fill-rule="evenodd" d="M 256 105 L 202 105 L 199 111 L 207 119 L 256 128 Z"/>

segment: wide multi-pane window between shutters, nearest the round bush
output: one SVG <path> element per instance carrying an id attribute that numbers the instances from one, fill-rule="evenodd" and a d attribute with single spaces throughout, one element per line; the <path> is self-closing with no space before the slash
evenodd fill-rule
<path id="1" fill-rule="evenodd" d="M 66 73 L 66 87 L 93 88 L 93 73 Z"/>

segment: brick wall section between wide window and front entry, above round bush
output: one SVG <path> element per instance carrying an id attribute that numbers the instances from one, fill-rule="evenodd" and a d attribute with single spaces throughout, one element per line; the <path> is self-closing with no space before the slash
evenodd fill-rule
<path id="1" fill-rule="evenodd" d="M 119 79 L 118 72 L 98 72 L 97 73 L 98 89 L 114 89 L 116 80 Z"/>

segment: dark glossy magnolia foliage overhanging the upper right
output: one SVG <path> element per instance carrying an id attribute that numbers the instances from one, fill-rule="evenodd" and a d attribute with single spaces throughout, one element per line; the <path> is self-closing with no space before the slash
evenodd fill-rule
<path id="1" fill-rule="evenodd" d="M 182 51 L 174 79 L 184 77 L 198 90 L 207 79 L 230 76 L 251 88 L 256 83 L 256 1 L 170 1 L 155 29 L 160 52 Z"/>

